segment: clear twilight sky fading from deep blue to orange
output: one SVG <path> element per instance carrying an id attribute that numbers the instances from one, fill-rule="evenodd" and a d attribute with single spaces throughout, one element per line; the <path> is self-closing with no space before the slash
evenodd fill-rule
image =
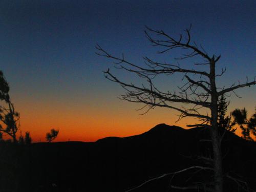
<path id="1" fill-rule="evenodd" d="M 145 37 L 145 26 L 177 37 L 192 25 L 191 38 L 209 55 L 221 54 L 217 71 L 227 72 L 219 86 L 253 80 L 255 65 L 255 1 L 1 1 L 0 70 L 20 113 L 23 132 L 34 142 L 59 129 L 56 141 L 96 141 L 109 136 L 141 134 L 159 123 L 185 127 L 177 112 L 154 109 L 118 99 L 124 90 L 104 78 L 108 68 L 122 80 L 140 83 L 95 54 L 96 44 L 136 64 L 143 56 L 174 62 L 184 51 L 156 54 Z M 183 61 L 182 61 L 183 62 Z M 193 68 L 193 63 L 183 65 Z M 181 85 L 181 77 L 156 83 L 163 90 Z M 229 110 L 256 106 L 255 87 L 231 95 Z"/>

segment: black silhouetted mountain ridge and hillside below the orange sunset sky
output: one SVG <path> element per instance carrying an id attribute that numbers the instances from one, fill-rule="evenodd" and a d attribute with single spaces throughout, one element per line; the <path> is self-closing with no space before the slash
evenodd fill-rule
<path id="1" fill-rule="evenodd" d="M 164 173 L 210 166 L 198 158 L 211 154 L 210 142 L 203 141 L 207 138 L 204 129 L 159 124 L 141 135 L 90 143 L 0 143 L 0 191 L 125 191 Z M 226 176 L 246 181 L 256 190 L 256 143 L 226 133 L 223 157 Z M 211 181 L 210 172 L 195 171 L 166 176 L 134 191 L 178 191 L 169 185 Z M 227 177 L 225 183 L 226 191 L 247 187 Z"/>

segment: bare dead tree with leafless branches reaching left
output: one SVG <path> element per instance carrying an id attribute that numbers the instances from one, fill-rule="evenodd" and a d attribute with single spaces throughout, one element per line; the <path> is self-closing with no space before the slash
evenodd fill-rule
<path id="1" fill-rule="evenodd" d="M 204 66 L 207 70 L 200 71 L 192 68 L 182 68 L 179 63 L 165 63 L 152 60 L 144 57 L 145 65 L 136 65 L 124 58 L 111 55 L 99 45 L 96 46 L 98 52 L 96 54 L 113 59 L 115 67 L 130 73 L 136 74 L 139 78 L 145 79 L 147 84 L 137 86 L 134 83 L 127 83 L 114 76 L 110 69 L 104 72 L 105 77 L 114 81 L 126 93 L 121 95 L 121 99 L 130 102 L 144 103 L 146 112 L 154 109 L 156 106 L 168 109 L 174 109 L 180 112 L 179 119 L 184 117 L 195 117 L 199 120 L 198 124 L 188 125 L 189 127 L 204 126 L 210 130 L 211 143 L 213 149 L 212 169 L 214 171 L 214 187 L 208 191 L 222 192 L 223 191 L 223 172 L 222 172 L 222 153 L 221 141 L 222 136 L 219 133 L 218 121 L 218 99 L 221 95 L 228 92 L 236 91 L 239 88 L 248 87 L 256 84 L 255 77 L 252 81 L 246 80 L 245 83 L 233 84 L 229 88 L 218 88 L 216 85 L 216 78 L 222 76 L 226 69 L 222 69 L 221 74 L 216 74 L 216 63 L 221 58 L 221 55 L 209 56 L 202 46 L 198 46 L 196 42 L 191 41 L 190 28 L 185 30 L 186 35 L 180 35 L 178 39 L 168 35 L 162 30 L 153 30 L 146 27 L 145 35 L 151 44 L 155 47 L 160 47 L 162 50 L 157 53 L 162 54 L 173 49 L 183 49 L 188 53 L 183 54 L 181 57 L 176 58 L 179 60 L 189 58 L 201 58 L 203 62 L 195 63 L 194 66 Z M 154 38 L 154 35 L 157 38 Z M 159 75 L 173 75 L 180 73 L 183 75 L 184 84 L 178 87 L 178 91 L 161 91 L 158 89 L 153 80 Z M 218 91 L 220 90 L 220 91 Z M 235 93 L 236 94 L 236 93 Z M 181 106 L 177 107 L 174 103 L 180 103 Z M 185 106 L 182 106 L 185 104 Z M 202 113 L 201 109 L 210 111 L 210 114 Z M 184 169 L 185 170 L 185 169 Z M 172 186 L 173 188 L 187 189 L 186 187 Z M 190 187 L 195 189 L 195 187 Z"/>

